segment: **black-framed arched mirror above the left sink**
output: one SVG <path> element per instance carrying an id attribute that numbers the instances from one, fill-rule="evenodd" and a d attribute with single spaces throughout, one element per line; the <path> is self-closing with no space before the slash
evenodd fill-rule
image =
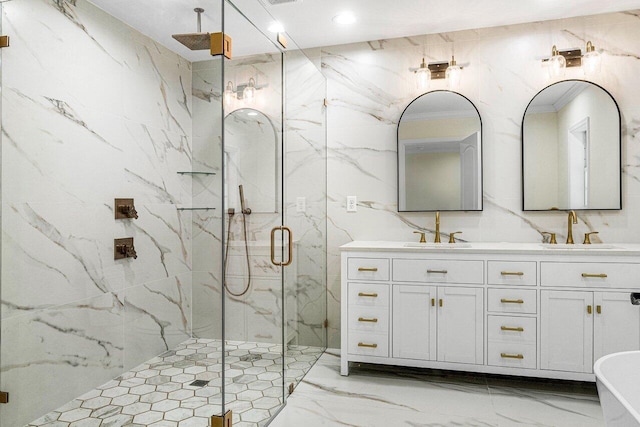
<path id="1" fill-rule="evenodd" d="M 482 121 L 464 96 L 425 93 L 398 123 L 398 211 L 482 210 Z"/>

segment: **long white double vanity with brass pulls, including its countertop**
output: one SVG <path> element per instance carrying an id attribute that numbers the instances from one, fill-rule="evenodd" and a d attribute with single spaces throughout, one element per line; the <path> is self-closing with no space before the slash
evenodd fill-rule
<path id="1" fill-rule="evenodd" d="M 594 381 L 599 357 L 640 350 L 640 245 L 446 245 L 341 248 L 343 375 L 364 362 Z"/>

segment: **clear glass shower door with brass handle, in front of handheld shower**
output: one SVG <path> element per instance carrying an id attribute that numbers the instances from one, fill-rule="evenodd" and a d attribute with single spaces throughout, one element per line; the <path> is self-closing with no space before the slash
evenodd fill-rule
<path id="1" fill-rule="evenodd" d="M 279 265 L 290 259 L 282 230 L 283 59 L 230 2 L 224 29 L 233 39 L 233 59 L 223 66 L 225 411 L 234 423 L 263 425 L 284 403 L 289 339 L 282 277 L 292 266 Z"/>

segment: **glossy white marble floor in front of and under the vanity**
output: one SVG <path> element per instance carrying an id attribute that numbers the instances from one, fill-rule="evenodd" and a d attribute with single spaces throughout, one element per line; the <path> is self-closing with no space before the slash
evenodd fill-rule
<path id="1" fill-rule="evenodd" d="M 270 427 L 604 426 L 595 384 L 352 364 L 327 350 Z"/>

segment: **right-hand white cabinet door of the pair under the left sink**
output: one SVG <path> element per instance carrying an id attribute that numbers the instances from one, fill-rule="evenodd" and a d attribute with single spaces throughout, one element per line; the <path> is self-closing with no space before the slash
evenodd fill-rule
<path id="1" fill-rule="evenodd" d="M 482 288 L 438 288 L 438 361 L 482 364 Z"/>

